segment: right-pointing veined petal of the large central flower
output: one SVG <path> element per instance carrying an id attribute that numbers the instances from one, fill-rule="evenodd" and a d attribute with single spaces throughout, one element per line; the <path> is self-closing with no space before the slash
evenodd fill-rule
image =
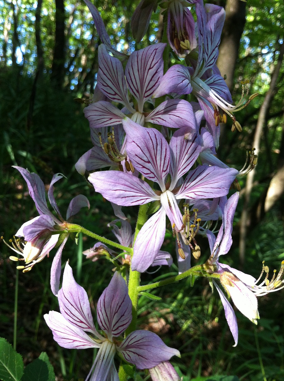
<path id="1" fill-rule="evenodd" d="M 225 196 L 238 171 L 234 168 L 198 166 L 189 171 L 176 199 L 208 199 Z"/>

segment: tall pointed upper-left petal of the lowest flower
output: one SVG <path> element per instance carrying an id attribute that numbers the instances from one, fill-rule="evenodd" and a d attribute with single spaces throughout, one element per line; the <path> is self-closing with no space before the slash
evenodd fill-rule
<path id="1" fill-rule="evenodd" d="M 94 326 L 88 295 L 84 288 L 76 283 L 68 262 L 63 272 L 62 288 L 58 291 L 58 302 L 61 314 L 70 324 L 83 331 L 92 332 L 102 339 Z"/>

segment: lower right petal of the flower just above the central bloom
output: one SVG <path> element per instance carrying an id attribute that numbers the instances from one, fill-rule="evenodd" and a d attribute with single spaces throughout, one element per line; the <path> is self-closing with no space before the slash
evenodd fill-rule
<path id="1" fill-rule="evenodd" d="M 162 102 L 145 120 L 171 128 L 187 127 L 190 130 L 188 132 L 196 130 L 192 106 L 183 99 L 168 99 Z"/>

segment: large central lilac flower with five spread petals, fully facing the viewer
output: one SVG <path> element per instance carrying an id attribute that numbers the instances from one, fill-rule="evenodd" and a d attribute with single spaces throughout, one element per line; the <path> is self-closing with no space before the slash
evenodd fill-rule
<path id="1" fill-rule="evenodd" d="M 129 118 L 123 124 L 129 136 L 126 150 L 133 166 L 147 179 L 157 182 L 161 190 L 154 191 L 146 181 L 118 171 L 92 173 L 89 181 L 95 191 L 117 205 L 143 205 L 151 201 L 158 202 L 158 208 L 160 205 L 140 230 L 133 247 L 132 269 L 144 272 L 163 243 L 166 215 L 178 242 L 180 235 L 184 243 L 191 245 L 189 221 L 186 217 L 186 224 L 183 223 L 179 200 L 226 195 L 237 171 L 233 168 L 197 166 L 182 181 L 182 176 L 195 163 L 201 150 L 198 135 L 189 141 L 184 139 L 186 129 L 179 129 L 168 144 L 154 128 L 143 128 Z"/>

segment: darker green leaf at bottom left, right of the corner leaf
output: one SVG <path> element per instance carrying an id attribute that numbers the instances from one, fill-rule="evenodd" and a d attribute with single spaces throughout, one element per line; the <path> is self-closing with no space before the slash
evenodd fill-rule
<path id="1" fill-rule="evenodd" d="M 41 352 L 38 359 L 27 365 L 21 381 L 54 381 L 55 374 L 46 352 Z"/>

